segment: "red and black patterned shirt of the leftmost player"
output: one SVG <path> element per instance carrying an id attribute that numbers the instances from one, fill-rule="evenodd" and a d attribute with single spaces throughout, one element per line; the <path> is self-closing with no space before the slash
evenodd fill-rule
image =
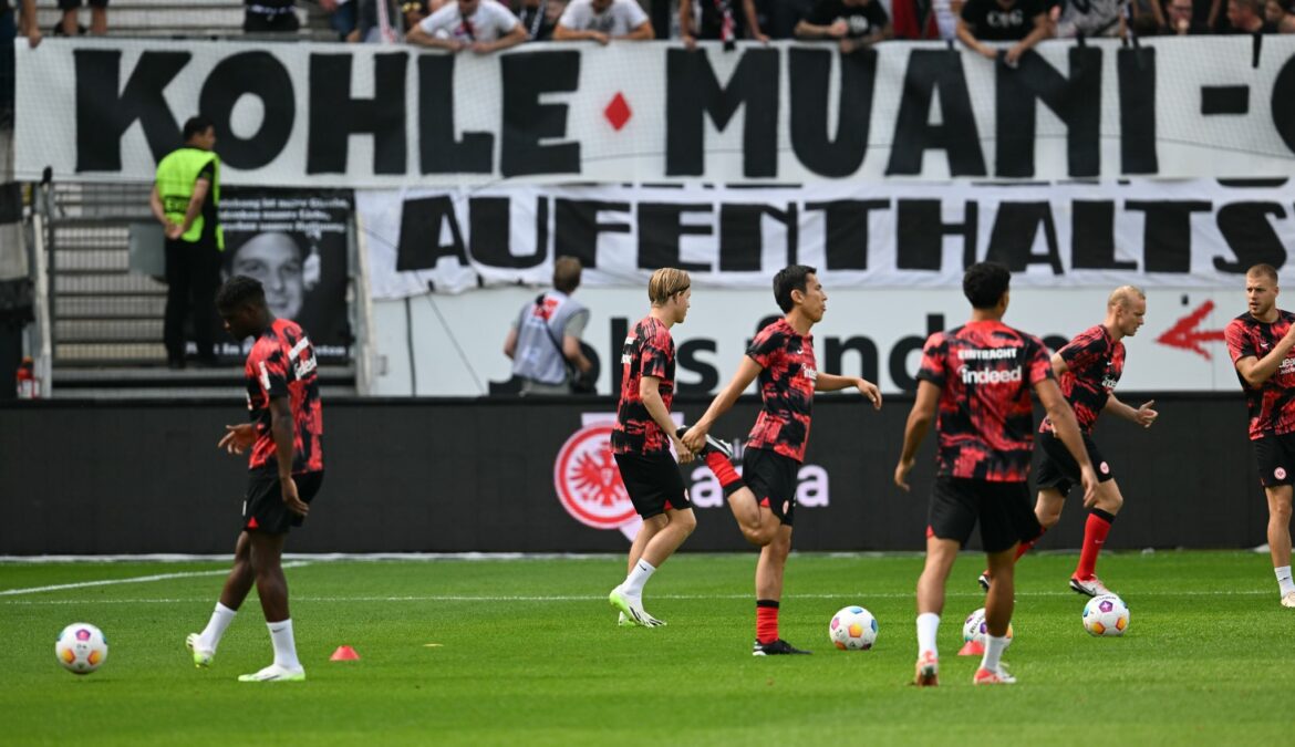
<path id="1" fill-rule="evenodd" d="M 243 369 L 249 419 L 256 427 L 247 469 L 277 470 L 277 449 L 269 429 L 269 400 L 276 397 L 287 397 L 293 410 L 293 474 L 324 469 L 324 410 L 315 369 L 315 347 L 295 321 L 276 318 L 256 338 Z"/>

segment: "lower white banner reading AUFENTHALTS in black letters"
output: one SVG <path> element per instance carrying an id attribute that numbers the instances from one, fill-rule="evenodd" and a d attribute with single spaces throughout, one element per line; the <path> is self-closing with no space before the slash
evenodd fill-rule
<path id="1" fill-rule="evenodd" d="M 680 267 L 698 287 L 769 286 L 809 264 L 833 287 L 949 287 L 995 259 L 1014 287 L 1232 287 L 1295 247 L 1285 179 L 1103 184 L 813 184 L 802 188 L 535 186 L 356 194 L 374 298 L 548 284 L 646 286 Z"/>

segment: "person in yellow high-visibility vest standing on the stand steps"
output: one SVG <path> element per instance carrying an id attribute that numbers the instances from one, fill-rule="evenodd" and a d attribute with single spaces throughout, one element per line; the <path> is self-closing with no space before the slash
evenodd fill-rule
<path id="1" fill-rule="evenodd" d="M 220 285 L 224 236 L 216 217 L 220 203 L 220 158 L 216 128 L 194 117 L 184 123 L 184 145 L 158 163 L 149 205 L 166 229 L 166 322 L 162 338 L 167 365 L 184 368 L 184 320 L 193 320 L 198 361 L 216 362 L 215 299 Z"/>

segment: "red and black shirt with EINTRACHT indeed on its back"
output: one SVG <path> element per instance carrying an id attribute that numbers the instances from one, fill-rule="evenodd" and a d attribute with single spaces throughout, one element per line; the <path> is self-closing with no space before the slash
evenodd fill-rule
<path id="1" fill-rule="evenodd" d="M 940 387 L 940 476 L 1023 483 L 1033 449 L 1030 390 L 1053 378 L 1039 338 L 998 321 L 932 334 L 919 381 Z"/>

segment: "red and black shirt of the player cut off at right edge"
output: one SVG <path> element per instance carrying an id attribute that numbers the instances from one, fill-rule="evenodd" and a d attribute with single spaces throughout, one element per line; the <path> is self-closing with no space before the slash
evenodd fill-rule
<path id="1" fill-rule="evenodd" d="M 1261 359 L 1283 337 L 1295 313 L 1278 309 L 1277 321 L 1261 322 L 1246 312 L 1228 322 L 1224 339 L 1228 340 L 1228 355 L 1233 366 L 1243 357 Z M 1246 392 L 1246 408 L 1250 410 L 1250 440 L 1269 435 L 1295 432 L 1295 353 L 1277 366 L 1274 373 L 1260 387 L 1250 386 L 1241 372 L 1237 372 L 1241 390 Z"/>

